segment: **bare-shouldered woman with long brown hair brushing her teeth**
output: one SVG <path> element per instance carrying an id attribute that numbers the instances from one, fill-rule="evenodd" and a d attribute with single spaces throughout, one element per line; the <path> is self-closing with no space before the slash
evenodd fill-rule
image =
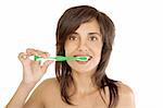
<path id="1" fill-rule="evenodd" d="M 7 108 L 135 108 L 133 91 L 111 80 L 105 68 L 112 51 L 115 28 L 111 19 L 89 5 L 70 8 L 57 28 L 57 55 L 82 57 L 87 61 L 57 61 L 57 77 L 43 81 L 26 100 L 30 91 L 53 61 L 33 61 L 48 52 L 28 48 L 18 59 L 23 80 Z"/>

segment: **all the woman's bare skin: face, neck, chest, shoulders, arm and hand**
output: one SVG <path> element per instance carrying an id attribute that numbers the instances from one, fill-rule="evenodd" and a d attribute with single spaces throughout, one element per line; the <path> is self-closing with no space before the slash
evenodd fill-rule
<path id="1" fill-rule="evenodd" d="M 21 52 L 18 59 L 23 64 L 23 81 L 5 108 L 108 108 L 110 101 L 109 89 L 105 87 L 106 94 L 102 93 L 106 101 L 104 104 L 97 86 L 90 80 L 100 61 L 101 48 L 102 40 L 96 20 L 82 24 L 65 43 L 66 56 L 78 53 L 92 56 L 92 59 L 86 64 L 77 63 L 75 60 L 67 61 L 72 68 L 72 75 L 77 87 L 75 95 L 71 98 L 76 106 L 70 106 L 62 100 L 57 79 L 43 81 L 26 101 L 27 96 L 43 76 L 52 61 L 45 61 L 41 65 L 39 61 L 29 59 L 29 56 L 34 55 L 47 58 L 49 53 L 45 51 L 29 48 L 26 52 Z M 123 83 L 118 83 L 117 86 L 120 100 L 116 108 L 135 108 L 131 89 Z M 74 91 L 73 87 L 71 87 L 71 91 Z"/>

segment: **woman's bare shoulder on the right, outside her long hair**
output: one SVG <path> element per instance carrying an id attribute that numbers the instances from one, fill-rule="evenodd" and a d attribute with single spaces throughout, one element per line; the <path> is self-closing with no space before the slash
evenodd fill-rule
<path id="1" fill-rule="evenodd" d="M 120 95 L 117 108 L 135 108 L 135 96 L 133 89 L 122 82 L 118 82 L 117 86 Z"/>

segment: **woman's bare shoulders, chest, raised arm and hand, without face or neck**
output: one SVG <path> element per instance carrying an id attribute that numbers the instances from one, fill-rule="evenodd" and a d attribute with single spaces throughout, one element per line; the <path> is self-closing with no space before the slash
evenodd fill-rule
<path id="1" fill-rule="evenodd" d="M 77 106 L 66 105 L 61 99 L 60 87 L 57 79 L 43 81 L 25 103 L 26 97 L 29 95 L 30 91 L 41 79 L 47 68 L 51 63 L 51 61 L 47 61 L 43 63 L 43 65 L 40 65 L 38 61 L 33 61 L 33 63 L 35 63 L 33 64 L 32 61 L 28 61 L 28 58 L 22 59 L 22 56 L 29 56 L 29 53 L 30 56 L 32 53 L 39 53 L 45 58 L 48 57 L 48 53 L 35 49 L 27 49 L 26 53 L 20 53 L 20 60 L 23 64 L 26 64 L 23 71 L 23 81 L 5 108 L 106 108 L 106 105 L 102 101 L 99 92 L 95 89 L 91 89 L 89 93 L 85 94 L 75 94 L 73 103 L 77 104 Z M 28 65 L 29 63 L 30 65 Z M 38 72 L 40 72 L 39 76 Z M 36 74 L 37 76 L 35 76 Z M 118 84 L 118 88 L 120 101 L 116 108 L 135 108 L 134 94 L 131 89 L 123 83 Z M 108 91 L 105 92 L 106 95 L 103 94 L 103 96 L 105 101 L 109 101 L 109 93 Z"/>

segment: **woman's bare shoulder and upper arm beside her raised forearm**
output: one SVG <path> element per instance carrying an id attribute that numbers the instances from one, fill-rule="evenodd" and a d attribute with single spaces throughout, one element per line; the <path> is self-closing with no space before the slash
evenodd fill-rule
<path id="1" fill-rule="evenodd" d="M 33 92 L 25 104 L 25 108 L 42 108 L 48 100 L 55 99 L 59 94 L 59 83 L 57 79 L 42 81 Z"/>

